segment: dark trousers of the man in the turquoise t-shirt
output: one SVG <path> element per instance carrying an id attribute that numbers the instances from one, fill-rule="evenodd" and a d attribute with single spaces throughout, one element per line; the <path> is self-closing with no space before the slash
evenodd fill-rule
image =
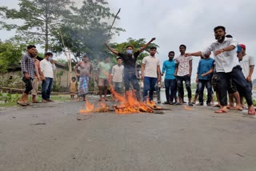
<path id="1" fill-rule="evenodd" d="M 165 79 L 166 87 L 166 101 L 168 103 L 174 102 L 174 97 L 177 93 L 177 81 L 176 79 Z"/>

